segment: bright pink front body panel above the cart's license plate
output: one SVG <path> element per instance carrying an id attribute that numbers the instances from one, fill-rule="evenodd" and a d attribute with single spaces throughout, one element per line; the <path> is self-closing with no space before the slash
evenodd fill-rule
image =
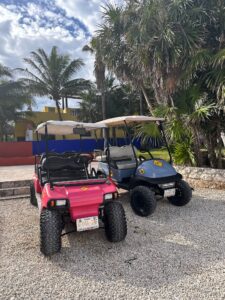
<path id="1" fill-rule="evenodd" d="M 42 191 L 42 208 L 47 207 L 50 199 L 68 199 L 69 213 L 72 221 L 79 218 L 86 218 L 99 215 L 99 206 L 104 201 L 104 194 L 117 192 L 115 184 L 108 180 L 108 183 L 88 184 L 98 182 L 96 180 L 85 180 L 76 186 L 54 186 L 45 184 Z M 60 183 L 62 184 L 62 183 Z M 68 182 L 66 182 L 68 184 Z"/>

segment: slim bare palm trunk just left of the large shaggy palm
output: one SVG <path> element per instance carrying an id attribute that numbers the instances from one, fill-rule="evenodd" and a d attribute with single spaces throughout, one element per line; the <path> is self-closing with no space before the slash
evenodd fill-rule
<path id="1" fill-rule="evenodd" d="M 90 45 L 85 45 L 83 51 L 88 51 L 95 55 L 94 74 L 96 78 L 97 89 L 102 99 L 102 118 L 106 119 L 106 94 L 105 94 L 105 64 L 101 53 L 101 40 L 92 38 Z"/>

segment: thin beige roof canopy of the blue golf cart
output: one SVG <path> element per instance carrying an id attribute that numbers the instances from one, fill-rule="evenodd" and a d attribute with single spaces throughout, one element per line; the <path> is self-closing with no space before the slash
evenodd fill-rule
<path id="1" fill-rule="evenodd" d="M 143 123 L 143 122 L 157 122 L 157 121 L 165 121 L 164 118 L 155 118 L 155 117 L 147 117 L 147 116 L 124 116 L 124 117 L 116 117 L 111 119 L 102 120 L 97 122 L 96 124 L 105 124 L 107 126 L 117 126 L 124 125 L 130 123 Z"/>

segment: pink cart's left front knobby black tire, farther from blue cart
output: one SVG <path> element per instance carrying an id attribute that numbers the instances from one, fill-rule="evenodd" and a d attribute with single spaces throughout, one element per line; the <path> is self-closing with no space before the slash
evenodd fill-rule
<path id="1" fill-rule="evenodd" d="M 62 217 L 56 210 L 43 209 L 40 218 L 40 249 L 50 256 L 61 250 Z"/>

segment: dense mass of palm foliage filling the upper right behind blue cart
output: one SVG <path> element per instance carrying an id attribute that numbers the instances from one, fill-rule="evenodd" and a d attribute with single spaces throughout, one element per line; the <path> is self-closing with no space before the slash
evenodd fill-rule
<path id="1" fill-rule="evenodd" d="M 225 9 L 220 0 L 108 4 L 94 37 L 106 69 L 165 116 L 177 163 L 222 167 Z M 146 128 L 143 133 L 147 134 Z"/>

